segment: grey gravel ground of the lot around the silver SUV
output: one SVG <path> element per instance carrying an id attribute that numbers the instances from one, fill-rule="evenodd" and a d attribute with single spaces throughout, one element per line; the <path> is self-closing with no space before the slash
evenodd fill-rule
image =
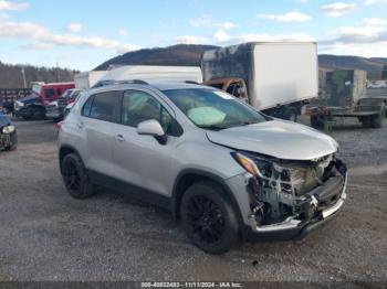
<path id="1" fill-rule="evenodd" d="M 301 240 L 210 256 L 159 208 L 107 190 L 71 199 L 54 125 L 15 125 L 18 149 L 0 153 L 0 280 L 387 281 L 387 126 L 335 127 L 351 180 L 333 222 Z"/>

